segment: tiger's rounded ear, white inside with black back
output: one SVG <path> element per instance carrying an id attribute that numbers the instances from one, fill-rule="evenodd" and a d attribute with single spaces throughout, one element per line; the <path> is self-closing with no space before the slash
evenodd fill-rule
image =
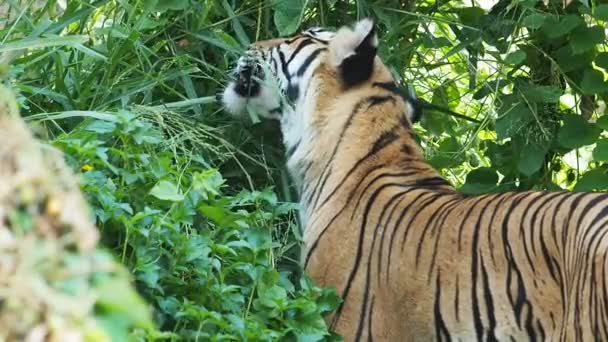
<path id="1" fill-rule="evenodd" d="M 354 29 L 342 27 L 329 43 L 330 63 L 345 87 L 368 80 L 374 71 L 378 38 L 374 22 L 363 19 Z"/>

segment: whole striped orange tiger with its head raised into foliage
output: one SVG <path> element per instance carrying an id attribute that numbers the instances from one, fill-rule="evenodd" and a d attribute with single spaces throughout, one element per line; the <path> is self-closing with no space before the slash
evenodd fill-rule
<path id="1" fill-rule="evenodd" d="M 225 109 L 278 120 L 302 264 L 345 341 L 608 340 L 608 193 L 469 195 L 424 159 L 374 21 L 252 43 Z"/>

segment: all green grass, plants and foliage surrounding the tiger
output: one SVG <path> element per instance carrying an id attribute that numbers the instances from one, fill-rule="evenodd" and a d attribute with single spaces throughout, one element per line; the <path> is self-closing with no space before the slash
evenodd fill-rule
<path id="1" fill-rule="evenodd" d="M 461 191 L 608 189 L 608 5 L 62 3 L 0 3 L 0 78 L 80 174 L 103 246 L 153 309 L 133 339 L 336 337 L 322 317 L 339 298 L 298 263 L 277 124 L 215 102 L 251 41 L 370 16 L 380 55 L 425 103 L 428 160 Z"/>

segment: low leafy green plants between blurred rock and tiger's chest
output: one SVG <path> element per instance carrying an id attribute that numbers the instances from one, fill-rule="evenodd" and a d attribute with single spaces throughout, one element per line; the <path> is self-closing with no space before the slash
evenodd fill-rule
<path id="1" fill-rule="evenodd" d="M 117 247 L 155 308 L 159 331 L 146 338 L 326 336 L 323 315 L 339 298 L 280 265 L 298 239 L 293 204 L 271 189 L 227 194 L 217 170 L 167 141 L 128 111 L 86 120 L 53 141 L 83 171 L 106 245 Z"/>

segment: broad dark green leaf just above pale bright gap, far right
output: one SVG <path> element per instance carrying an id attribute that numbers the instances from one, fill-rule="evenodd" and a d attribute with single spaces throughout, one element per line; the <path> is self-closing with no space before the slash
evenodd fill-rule
<path id="1" fill-rule="evenodd" d="M 580 115 L 565 114 L 564 125 L 560 127 L 557 139 L 565 148 L 579 148 L 593 144 L 601 133 L 596 125 L 585 121 Z"/>

